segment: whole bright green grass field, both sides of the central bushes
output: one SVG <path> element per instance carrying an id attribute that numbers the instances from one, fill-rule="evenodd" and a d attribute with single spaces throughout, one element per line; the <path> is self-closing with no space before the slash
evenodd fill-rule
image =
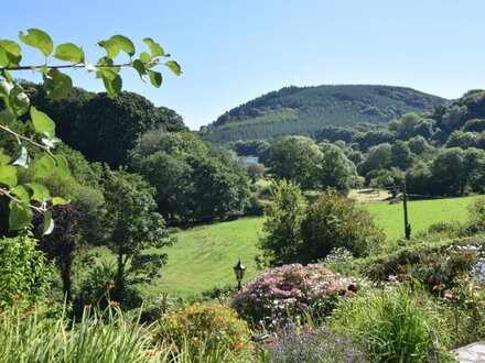
<path id="1" fill-rule="evenodd" d="M 412 233 L 440 221 L 463 222 L 466 207 L 474 197 L 408 202 Z M 388 239 L 403 237 L 402 204 L 373 202 L 363 205 L 384 229 Z M 256 270 L 257 241 L 263 218 L 242 218 L 235 221 L 195 227 L 181 231 L 179 241 L 161 250 L 169 254 L 162 277 L 143 286 L 151 296 L 171 292 L 181 297 L 200 294 L 213 287 L 236 285 L 233 266 L 240 257 L 247 266 L 245 282 L 260 272 Z"/>

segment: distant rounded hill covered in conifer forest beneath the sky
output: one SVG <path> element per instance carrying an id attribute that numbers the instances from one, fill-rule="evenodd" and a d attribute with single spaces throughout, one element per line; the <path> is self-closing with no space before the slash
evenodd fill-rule
<path id="1" fill-rule="evenodd" d="M 405 87 L 291 86 L 231 109 L 201 128 L 201 134 L 216 143 L 290 134 L 316 139 L 328 127 L 382 124 L 405 112 L 433 111 L 445 101 Z"/>

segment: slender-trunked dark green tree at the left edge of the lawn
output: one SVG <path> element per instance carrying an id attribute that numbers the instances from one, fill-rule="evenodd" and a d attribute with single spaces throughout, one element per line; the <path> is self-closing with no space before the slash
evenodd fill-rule
<path id="1" fill-rule="evenodd" d="M 155 210 L 154 189 L 137 174 L 123 169 L 105 172 L 106 227 L 109 250 L 116 255 L 112 297 L 125 297 L 127 283 L 150 282 L 160 274 L 166 254 L 147 249 L 170 245 L 165 222 Z"/>

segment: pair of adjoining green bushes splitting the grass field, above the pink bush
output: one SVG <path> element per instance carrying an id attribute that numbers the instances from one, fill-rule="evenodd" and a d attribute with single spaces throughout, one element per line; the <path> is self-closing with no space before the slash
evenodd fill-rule
<path id="1" fill-rule="evenodd" d="M 270 265 L 311 263 L 333 249 L 345 248 L 355 256 L 377 251 L 384 233 L 369 212 L 335 189 L 327 189 L 308 205 L 293 183 L 280 182 L 271 189 L 272 201 L 259 243 Z"/>

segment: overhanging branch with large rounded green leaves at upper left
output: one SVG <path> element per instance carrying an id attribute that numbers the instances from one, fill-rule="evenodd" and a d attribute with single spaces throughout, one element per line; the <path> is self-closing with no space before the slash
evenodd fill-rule
<path id="1" fill-rule="evenodd" d="M 51 197 L 50 191 L 40 183 L 19 184 L 18 169 L 33 168 L 35 178 L 45 178 L 54 173 L 61 178 L 69 177 L 66 158 L 54 152 L 58 140 L 55 136 L 55 122 L 44 112 L 31 106 L 28 95 L 22 85 L 15 81 L 12 73 L 19 70 L 32 70 L 42 77 L 42 84 L 50 99 L 61 99 L 73 88 L 73 80 L 62 69 L 84 68 L 88 73 L 95 73 L 96 78 L 101 79 L 109 96 L 116 96 L 121 91 L 122 68 L 133 68 L 141 80 L 150 81 L 154 87 L 162 84 L 162 74 L 153 70 L 158 65 L 166 66 L 175 75 L 181 74 L 180 65 L 175 61 L 161 63 L 161 58 L 169 58 L 162 46 L 150 37 L 143 43 L 148 52 L 141 52 L 136 57 L 133 42 L 123 35 L 114 35 L 109 40 L 99 41 L 97 46 L 106 51 L 96 63 L 86 61 L 83 48 L 73 43 L 63 43 L 54 47 L 48 34 L 37 29 L 28 30 L 26 34 L 19 32 L 20 41 L 45 56 L 44 64 L 23 65 L 21 45 L 14 41 L 0 40 L 0 98 L 4 109 L 0 111 L 0 132 L 12 136 L 18 147 L 12 155 L 4 154 L 0 148 L 0 196 L 9 198 L 9 227 L 10 230 L 20 230 L 26 227 L 32 219 L 33 210 L 44 216 L 44 234 L 54 229 L 54 221 L 50 209 L 68 201 L 60 197 Z M 128 57 L 126 62 L 115 62 L 123 53 Z M 66 62 L 66 64 L 51 64 L 52 58 Z M 15 122 L 24 114 L 29 114 L 34 133 L 24 135 L 14 130 Z M 28 147 L 39 150 L 32 160 Z"/>

